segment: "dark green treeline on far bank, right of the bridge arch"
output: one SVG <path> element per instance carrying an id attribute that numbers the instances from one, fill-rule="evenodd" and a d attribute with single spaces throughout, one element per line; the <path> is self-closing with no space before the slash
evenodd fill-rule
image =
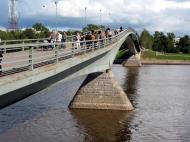
<path id="1" fill-rule="evenodd" d="M 144 48 L 165 53 L 190 53 L 190 37 L 185 35 L 176 38 L 174 33 L 164 34 L 155 31 L 153 35 L 146 29 L 140 35 L 140 43 Z"/>

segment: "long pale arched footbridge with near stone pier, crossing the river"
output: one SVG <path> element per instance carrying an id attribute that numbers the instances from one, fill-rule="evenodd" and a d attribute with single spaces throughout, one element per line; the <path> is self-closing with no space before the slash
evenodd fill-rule
<path id="1" fill-rule="evenodd" d="M 130 56 L 140 65 L 139 38 L 133 29 L 128 28 L 111 38 L 78 43 L 36 41 L 13 41 L 14 44 L 0 46 L 3 52 L 0 108 L 58 81 L 88 75 L 70 103 L 71 108 L 133 109 L 111 72 L 116 54 L 124 43 Z"/>

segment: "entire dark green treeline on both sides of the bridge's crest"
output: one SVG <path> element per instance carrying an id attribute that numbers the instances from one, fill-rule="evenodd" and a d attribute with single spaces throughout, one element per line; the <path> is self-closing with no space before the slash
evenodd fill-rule
<path id="1" fill-rule="evenodd" d="M 105 29 L 104 26 L 89 24 L 82 29 L 83 32 Z M 50 35 L 50 30 L 41 23 L 36 23 L 30 29 L 23 31 L 6 32 L 0 30 L 1 40 L 15 40 L 15 39 L 36 39 L 47 38 Z M 75 35 L 76 30 L 68 30 L 68 36 Z M 62 33 L 62 32 L 61 32 Z M 177 39 L 174 33 L 164 34 L 163 32 L 156 31 L 153 35 L 146 29 L 140 35 L 140 43 L 144 48 L 152 49 L 158 52 L 165 53 L 190 53 L 190 37 L 185 35 Z"/>

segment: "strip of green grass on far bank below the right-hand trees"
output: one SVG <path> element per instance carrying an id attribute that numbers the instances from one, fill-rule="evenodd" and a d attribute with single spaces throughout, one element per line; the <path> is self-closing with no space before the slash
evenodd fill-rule
<path id="1" fill-rule="evenodd" d="M 158 59 L 158 60 L 190 60 L 190 54 L 181 53 L 158 53 L 148 50 L 144 51 L 141 56 L 142 59 Z"/>

